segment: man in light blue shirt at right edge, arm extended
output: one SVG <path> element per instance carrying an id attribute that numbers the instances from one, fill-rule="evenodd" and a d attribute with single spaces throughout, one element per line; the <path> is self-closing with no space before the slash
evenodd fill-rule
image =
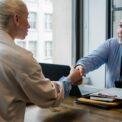
<path id="1" fill-rule="evenodd" d="M 118 29 L 118 38 L 110 38 L 88 56 L 78 60 L 76 69 L 81 76 L 106 64 L 106 87 L 114 87 L 115 81 L 120 80 L 122 56 L 122 20 Z"/>

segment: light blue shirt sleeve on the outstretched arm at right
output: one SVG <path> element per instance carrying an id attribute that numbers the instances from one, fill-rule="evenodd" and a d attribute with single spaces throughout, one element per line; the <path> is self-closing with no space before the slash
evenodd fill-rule
<path id="1" fill-rule="evenodd" d="M 77 65 L 82 65 L 85 73 L 93 71 L 107 62 L 109 55 L 109 40 L 100 45 L 96 50 L 92 51 L 88 56 L 85 56 L 77 61 Z"/>

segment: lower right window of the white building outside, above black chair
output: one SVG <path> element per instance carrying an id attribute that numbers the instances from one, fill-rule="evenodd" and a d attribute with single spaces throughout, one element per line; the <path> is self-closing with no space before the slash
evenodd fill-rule
<path id="1" fill-rule="evenodd" d="M 52 58 L 52 41 L 45 41 L 45 57 Z"/>

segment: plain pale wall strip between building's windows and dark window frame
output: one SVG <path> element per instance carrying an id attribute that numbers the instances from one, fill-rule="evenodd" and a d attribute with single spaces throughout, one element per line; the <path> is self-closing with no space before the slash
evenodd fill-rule
<path id="1" fill-rule="evenodd" d="M 53 63 L 72 62 L 72 1 L 53 0 Z"/>

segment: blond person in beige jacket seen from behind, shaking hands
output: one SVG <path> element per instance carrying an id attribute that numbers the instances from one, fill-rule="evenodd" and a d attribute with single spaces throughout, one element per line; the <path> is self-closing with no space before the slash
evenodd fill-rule
<path id="1" fill-rule="evenodd" d="M 77 70 L 59 82 L 46 79 L 32 53 L 15 44 L 28 33 L 28 14 L 22 0 L 0 0 L 0 122 L 23 122 L 27 102 L 57 106 L 81 83 Z"/>

